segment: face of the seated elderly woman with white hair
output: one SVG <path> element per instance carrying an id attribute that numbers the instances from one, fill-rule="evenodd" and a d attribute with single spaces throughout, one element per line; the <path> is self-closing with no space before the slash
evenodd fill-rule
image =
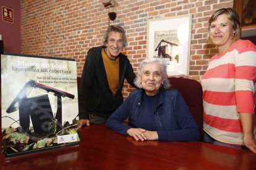
<path id="1" fill-rule="evenodd" d="M 163 80 L 160 65 L 148 63 L 142 68 L 142 88 L 147 95 L 155 95 L 163 84 Z"/>

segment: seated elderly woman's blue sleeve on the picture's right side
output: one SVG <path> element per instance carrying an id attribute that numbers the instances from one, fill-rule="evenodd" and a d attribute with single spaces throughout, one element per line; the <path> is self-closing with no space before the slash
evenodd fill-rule
<path id="1" fill-rule="evenodd" d="M 192 117 L 181 93 L 177 94 L 176 114 L 180 129 L 172 131 L 157 131 L 158 140 L 165 141 L 195 141 L 200 140 L 197 124 Z"/>

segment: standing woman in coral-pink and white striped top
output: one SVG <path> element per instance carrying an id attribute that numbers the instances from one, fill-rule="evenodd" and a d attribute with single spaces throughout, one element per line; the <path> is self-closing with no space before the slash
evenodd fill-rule
<path id="1" fill-rule="evenodd" d="M 202 78 L 204 140 L 256 153 L 256 46 L 238 39 L 239 15 L 231 8 L 211 15 L 208 29 L 218 54 Z"/>

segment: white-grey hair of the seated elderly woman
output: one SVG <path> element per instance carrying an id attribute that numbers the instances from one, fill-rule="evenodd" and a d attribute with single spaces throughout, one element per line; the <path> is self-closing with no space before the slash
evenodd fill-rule
<path id="1" fill-rule="evenodd" d="M 163 81 L 163 87 L 164 89 L 168 89 L 170 87 L 169 81 L 168 81 L 168 75 L 167 75 L 167 65 L 164 59 L 162 58 L 150 58 L 150 59 L 145 59 L 140 63 L 140 67 L 139 67 L 139 71 L 138 71 L 138 75 L 134 80 L 134 83 L 137 87 L 139 87 L 140 89 L 142 88 L 142 83 L 140 81 L 141 77 L 142 77 L 142 68 L 148 64 L 148 63 L 156 63 L 160 66 L 161 68 L 161 76 L 163 77 L 164 81 Z"/>

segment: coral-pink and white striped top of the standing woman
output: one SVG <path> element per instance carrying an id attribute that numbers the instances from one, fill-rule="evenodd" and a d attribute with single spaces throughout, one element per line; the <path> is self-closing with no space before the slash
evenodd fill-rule
<path id="1" fill-rule="evenodd" d="M 213 139 L 244 145 L 238 112 L 254 114 L 256 46 L 234 42 L 223 55 L 213 55 L 202 78 L 203 129 Z M 255 124 L 255 123 L 254 123 Z"/>

